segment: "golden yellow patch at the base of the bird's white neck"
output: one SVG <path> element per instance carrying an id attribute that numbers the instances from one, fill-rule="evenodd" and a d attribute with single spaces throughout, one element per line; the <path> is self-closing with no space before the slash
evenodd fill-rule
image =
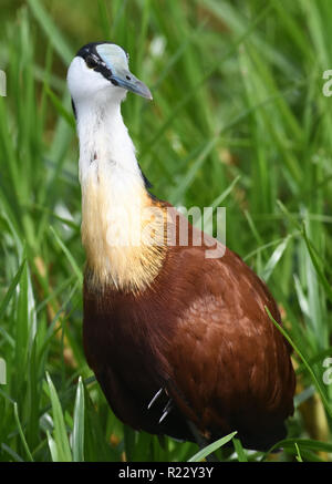
<path id="1" fill-rule="evenodd" d="M 96 163 L 96 161 L 94 161 Z M 166 250 L 166 210 L 137 177 L 123 183 L 98 163 L 82 184 L 82 243 L 87 284 L 142 291 L 158 275 Z"/>

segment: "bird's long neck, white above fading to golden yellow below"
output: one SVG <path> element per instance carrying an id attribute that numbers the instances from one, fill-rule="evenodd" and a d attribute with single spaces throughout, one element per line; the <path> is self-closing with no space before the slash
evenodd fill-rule
<path id="1" fill-rule="evenodd" d="M 145 188 L 120 104 L 79 106 L 76 115 L 89 285 L 144 290 L 163 264 L 164 220 L 151 215 L 155 202 Z M 146 225 L 160 243 L 143 241 Z"/>

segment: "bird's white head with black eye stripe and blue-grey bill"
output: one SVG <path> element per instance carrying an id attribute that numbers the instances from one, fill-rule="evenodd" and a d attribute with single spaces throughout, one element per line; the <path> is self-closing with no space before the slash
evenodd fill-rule
<path id="1" fill-rule="evenodd" d="M 68 71 L 74 104 L 95 99 L 121 102 L 127 91 L 152 100 L 149 89 L 128 68 L 128 54 L 111 42 L 82 47 Z"/>

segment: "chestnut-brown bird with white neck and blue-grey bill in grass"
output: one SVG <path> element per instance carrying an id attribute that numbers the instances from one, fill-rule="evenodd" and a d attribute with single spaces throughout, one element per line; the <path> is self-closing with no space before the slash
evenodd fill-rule
<path id="1" fill-rule="evenodd" d="M 128 63 L 122 47 L 91 42 L 66 78 L 86 361 L 136 431 L 198 443 L 236 431 L 246 449 L 267 451 L 294 411 L 292 349 L 270 318 L 282 323 L 278 305 L 239 255 L 152 193 L 121 104 L 128 92 L 153 96 Z"/>

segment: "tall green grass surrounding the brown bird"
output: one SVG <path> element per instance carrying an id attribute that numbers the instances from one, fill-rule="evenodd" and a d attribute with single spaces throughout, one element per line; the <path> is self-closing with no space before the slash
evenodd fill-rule
<path id="1" fill-rule="evenodd" d="M 227 206 L 227 245 L 280 305 L 298 391 L 273 460 L 331 461 L 332 100 L 322 93 L 331 1 L 29 0 L 2 13 L 0 460 L 203 459 L 194 444 L 160 443 L 118 422 L 83 354 L 65 74 L 82 44 L 104 39 L 129 52 L 154 94 L 153 103 L 129 94 L 123 105 L 154 193 L 187 207 Z M 219 459 L 271 459 L 232 441 L 235 453 L 218 450 Z"/>

